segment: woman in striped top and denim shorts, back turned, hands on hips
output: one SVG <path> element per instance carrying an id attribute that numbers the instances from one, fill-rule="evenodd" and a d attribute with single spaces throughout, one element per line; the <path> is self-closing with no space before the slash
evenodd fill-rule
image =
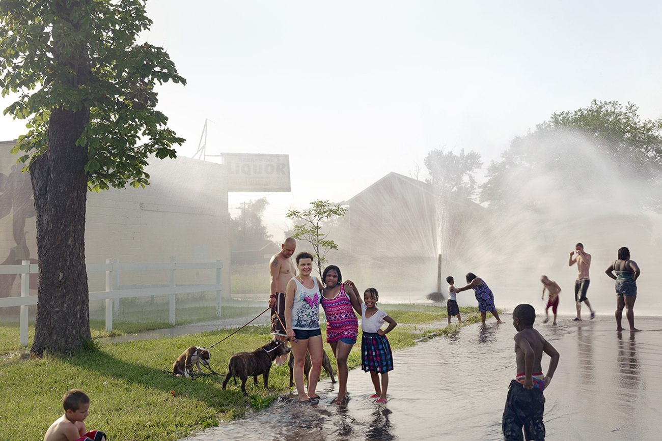
<path id="1" fill-rule="evenodd" d="M 616 272 L 616 274 L 614 274 Z M 616 280 L 616 331 L 623 331 L 621 319 L 623 308 L 627 308 L 626 317 L 630 323 L 630 332 L 639 331 L 634 327 L 634 301 L 637 300 L 636 280 L 641 274 L 637 262 L 630 260 L 630 250 L 627 247 L 618 249 L 618 261 L 609 265 L 605 273 Z"/>

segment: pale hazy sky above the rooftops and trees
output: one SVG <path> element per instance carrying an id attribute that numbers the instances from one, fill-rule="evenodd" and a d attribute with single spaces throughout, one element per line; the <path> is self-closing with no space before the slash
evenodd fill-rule
<path id="1" fill-rule="evenodd" d="M 187 7 L 183 7 L 187 5 Z M 425 179 L 432 149 L 477 151 L 484 168 L 512 138 L 592 99 L 662 118 L 662 3 L 655 1 L 150 0 L 139 38 L 166 48 L 187 85 L 158 108 L 191 157 L 289 155 L 291 192 L 267 197 L 275 240 L 285 212 L 340 202 L 390 172 Z M 11 100 L 0 99 L 5 108 Z M 0 116 L 0 139 L 25 132 Z M 480 180 L 480 177 L 479 177 Z"/>

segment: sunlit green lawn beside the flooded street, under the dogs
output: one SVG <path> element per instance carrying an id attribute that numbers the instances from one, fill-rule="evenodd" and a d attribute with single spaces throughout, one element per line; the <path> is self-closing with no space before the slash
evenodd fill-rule
<path id="1" fill-rule="evenodd" d="M 446 326 L 442 308 L 383 307 L 401 325 L 389 333 L 393 350 L 458 328 L 455 324 Z M 469 308 L 462 308 L 461 314 L 465 324 L 479 320 L 479 315 Z M 436 326 L 415 326 L 430 323 Z M 0 354 L 5 356 L 0 356 L 0 433 L 11 434 L 11 439 L 35 439 L 35 433 L 40 438 L 50 423 L 62 415 L 60 399 L 74 387 L 85 391 L 92 400 L 86 426 L 106 430 L 112 439 L 126 441 L 177 440 L 195 430 L 242 417 L 248 409 L 263 409 L 278 395 L 289 393 L 287 366 L 271 368 L 270 390 L 263 389 L 261 381 L 258 386 L 249 381 L 248 397 L 232 380 L 222 390 L 222 376 L 186 379 L 167 373 L 183 348 L 192 344 L 211 346 L 230 332 L 232 329 L 122 343 L 91 342 L 71 357 L 30 358 L 26 349 L 21 351 L 15 344 L 5 342 L 12 333 L 18 340 L 18 325 L 1 325 Z M 266 326 L 247 326 L 212 348 L 214 370 L 224 373 L 232 354 L 265 344 L 271 338 L 268 333 Z M 324 347 L 333 363 L 330 348 L 326 344 Z M 360 355 L 360 344 L 356 344 L 348 358 L 350 368 L 360 366 Z"/>

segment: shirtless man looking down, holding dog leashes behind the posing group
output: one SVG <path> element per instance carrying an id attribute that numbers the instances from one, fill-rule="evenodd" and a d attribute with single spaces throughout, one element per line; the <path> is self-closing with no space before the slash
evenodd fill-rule
<path id="1" fill-rule="evenodd" d="M 281 245 L 281 251 L 273 255 L 271 261 L 269 261 L 269 273 L 271 274 L 271 295 L 269 296 L 271 333 L 278 340 L 287 338 L 287 330 L 283 328 L 283 324 L 285 324 L 285 288 L 287 282 L 297 275 L 297 267 L 290 259 L 295 249 L 297 249 L 297 241 L 293 237 L 288 237 Z M 287 355 L 277 356 L 274 361 L 276 364 L 284 364 L 287 361 Z"/>

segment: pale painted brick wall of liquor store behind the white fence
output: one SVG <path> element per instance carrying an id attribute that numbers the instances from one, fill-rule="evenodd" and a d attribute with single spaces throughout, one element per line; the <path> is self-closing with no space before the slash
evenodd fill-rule
<path id="1" fill-rule="evenodd" d="M 29 184 L 29 177 L 17 173 L 17 157 L 9 153 L 12 146 L 13 142 L 0 143 L 0 262 L 20 263 L 26 256 L 37 257 L 36 227 L 34 201 L 29 196 L 32 187 L 28 196 L 23 187 L 23 192 L 17 190 L 26 178 Z M 179 262 L 220 259 L 227 295 L 230 240 L 224 166 L 189 158 L 154 159 L 146 171 L 151 183 L 146 188 L 87 194 L 85 261 L 168 262 L 171 256 Z M 122 274 L 120 284 L 167 284 L 169 275 L 161 273 Z M 190 270 L 178 273 L 176 282 L 211 283 L 215 278 L 214 270 Z M 91 291 L 104 290 L 105 274 L 91 273 L 89 286 Z M 15 280 L 0 280 L 0 296 L 9 294 L 18 294 Z"/>

